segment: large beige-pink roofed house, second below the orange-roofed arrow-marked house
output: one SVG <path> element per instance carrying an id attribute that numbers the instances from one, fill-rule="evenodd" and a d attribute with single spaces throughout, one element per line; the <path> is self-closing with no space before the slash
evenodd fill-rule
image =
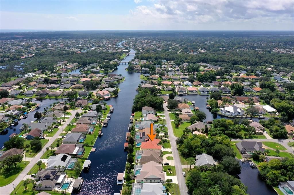
<path id="1" fill-rule="evenodd" d="M 161 164 L 154 161 L 143 164 L 140 173 L 136 177 L 137 183 L 163 183 L 164 180 Z"/>

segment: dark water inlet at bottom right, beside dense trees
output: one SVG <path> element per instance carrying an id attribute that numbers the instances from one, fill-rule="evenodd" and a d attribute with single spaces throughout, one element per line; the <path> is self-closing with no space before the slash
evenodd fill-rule
<path id="1" fill-rule="evenodd" d="M 249 163 L 242 163 L 241 173 L 239 174 L 241 182 L 248 186 L 247 193 L 250 195 L 277 195 L 275 190 L 266 185 L 265 182 L 259 177 L 258 169 L 252 169 Z"/>

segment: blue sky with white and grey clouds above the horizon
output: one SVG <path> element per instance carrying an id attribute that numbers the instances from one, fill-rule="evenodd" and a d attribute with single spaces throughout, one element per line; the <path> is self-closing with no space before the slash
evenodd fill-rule
<path id="1" fill-rule="evenodd" d="M 294 30 L 292 0 L 0 0 L 1 29 Z"/>

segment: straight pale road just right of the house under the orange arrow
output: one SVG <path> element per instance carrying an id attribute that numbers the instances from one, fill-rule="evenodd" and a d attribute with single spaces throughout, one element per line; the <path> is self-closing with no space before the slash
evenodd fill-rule
<path id="1" fill-rule="evenodd" d="M 180 160 L 180 156 L 179 156 L 177 144 L 176 144 L 177 137 L 174 136 L 174 134 L 173 134 L 173 128 L 171 126 L 171 119 L 169 118 L 168 109 L 166 106 L 167 106 L 166 103 L 163 104 L 164 114 L 166 117 L 166 124 L 167 124 L 167 128 L 168 128 L 169 140 L 171 142 L 171 150 L 173 153 L 173 161 L 176 166 L 176 174 L 177 174 L 178 184 L 180 187 L 180 194 L 185 195 L 185 194 L 188 194 L 187 193 L 188 189 L 186 187 L 186 179 L 182 175 L 183 169 L 182 169 L 182 164 L 181 164 L 181 160 Z"/>

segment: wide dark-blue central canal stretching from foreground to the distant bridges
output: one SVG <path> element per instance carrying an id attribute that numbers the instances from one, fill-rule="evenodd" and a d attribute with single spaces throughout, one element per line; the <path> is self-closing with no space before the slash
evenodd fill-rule
<path id="1" fill-rule="evenodd" d="M 135 52 L 131 50 L 131 52 Z M 127 56 L 124 61 L 130 61 L 133 56 Z M 136 88 L 140 84 L 140 73 L 128 73 L 125 71 L 127 65 L 119 65 L 113 74 L 122 74 L 125 81 L 119 85 L 120 92 L 115 98 L 107 101 L 108 105 L 114 107 L 108 126 L 102 128 L 103 136 L 98 137 L 88 160 L 91 160 L 89 172 L 82 172 L 83 187 L 77 194 L 105 194 L 119 193 L 121 185 L 116 184 L 118 173 L 125 170 L 127 152 L 123 149 L 126 142 L 126 132 L 130 123 L 133 98 Z"/>

